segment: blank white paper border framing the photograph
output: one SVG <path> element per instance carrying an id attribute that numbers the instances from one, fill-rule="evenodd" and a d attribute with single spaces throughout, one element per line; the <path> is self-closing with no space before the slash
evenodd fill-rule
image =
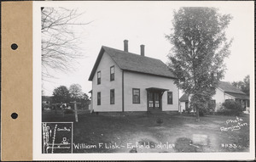
<path id="1" fill-rule="evenodd" d="M 75 7 L 79 3 L 106 3 L 106 2 L 33 2 L 33 160 L 245 160 L 254 159 L 255 156 L 255 130 L 254 130 L 254 59 L 250 59 L 252 68 L 250 69 L 250 152 L 248 153 L 137 153 L 137 154 L 41 154 L 42 142 L 38 139 L 42 139 L 42 114 L 41 114 L 41 35 L 40 35 L 40 8 L 41 7 Z M 115 2 L 108 2 L 115 3 Z M 134 2 L 143 3 L 143 2 Z M 145 2 L 146 3 L 146 2 Z M 150 2 L 147 2 L 150 3 Z M 184 4 L 183 6 L 202 6 L 202 7 L 218 7 L 219 5 L 228 5 L 230 3 L 236 3 L 237 5 L 247 5 L 248 8 L 253 8 L 253 2 L 177 2 L 173 1 L 173 4 Z M 218 3 L 218 5 L 217 5 Z M 253 14 L 253 13 L 250 13 Z M 253 24 L 253 23 L 252 23 Z M 254 38 L 254 32 L 252 33 Z M 254 39 L 253 39 L 254 40 Z M 254 49 L 252 49 L 254 50 Z M 252 51 L 254 53 L 254 51 Z M 38 130 L 40 129 L 40 130 Z M 39 151 L 38 151 L 39 150 Z M 182 156 L 181 156 L 182 155 Z M 199 156 L 200 155 L 200 156 Z"/>

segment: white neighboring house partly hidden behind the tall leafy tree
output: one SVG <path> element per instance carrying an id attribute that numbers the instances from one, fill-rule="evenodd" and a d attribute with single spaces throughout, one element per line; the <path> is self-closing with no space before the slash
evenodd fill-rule
<path id="1" fill-rule="evenodd" d="M 249 110 L 250 98 L 246 93 L 241 92 L 241 90 L 236 87 L 233 87 L 229 82 L 219 81 L 218 87 L 216 88 L 216 94 L 212 97 L 212 103 L 215 104 L 215 111 L 217 111 L 221 107 L 222 103 L 228 99 L 240 102 L 245 111 Z M 179 99 L 182 110 L 187 110 L 189 108 L 189 100 L 190 98 L 188 94 L 183 94 Z"/>

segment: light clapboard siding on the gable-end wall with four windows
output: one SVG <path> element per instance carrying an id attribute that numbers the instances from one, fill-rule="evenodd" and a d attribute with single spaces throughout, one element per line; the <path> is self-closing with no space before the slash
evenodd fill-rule
<path id="1" fill-rule="evenodd" d="M 110 67 L 114 65 L 114 81 L 110 81 Z M 97 72 L 101 71 L 101 84 L 97 85 Z M 122 70 L 113 62 L 108 53 L 103 53 L 92 80 L 92 99 L 95 112 L 122 111 Z M 110 104 L 110 89 L 114 89 L 114 104 Z M 101 105 L 97 105 L 97 92 L 101 92 Z"/>

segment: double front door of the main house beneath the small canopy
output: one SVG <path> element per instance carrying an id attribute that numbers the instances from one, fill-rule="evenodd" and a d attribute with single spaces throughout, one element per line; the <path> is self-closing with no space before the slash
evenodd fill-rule
<path id="1" fill-rule="evenodd" d="M 148 92 L 148 111 L 161 110 L 160 92 Z"/>

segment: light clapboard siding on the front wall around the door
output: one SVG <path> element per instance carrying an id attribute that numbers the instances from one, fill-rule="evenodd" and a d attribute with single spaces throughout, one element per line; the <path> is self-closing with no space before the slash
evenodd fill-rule
<path id="1" fill-rule="evenodd" d="M 164 92 L 162 96 L 162 110 L 178 110 L 178 88 L 174 85 L 173 79 L 124 71 L 125 111 L 147 111 L 146 88 L 148 87 L 169 89 L 173 94 L 173 104 L 167 104 L 167 92 Z M 132 88 L 140 89 L 140 103 L 132 103 Z"/>

